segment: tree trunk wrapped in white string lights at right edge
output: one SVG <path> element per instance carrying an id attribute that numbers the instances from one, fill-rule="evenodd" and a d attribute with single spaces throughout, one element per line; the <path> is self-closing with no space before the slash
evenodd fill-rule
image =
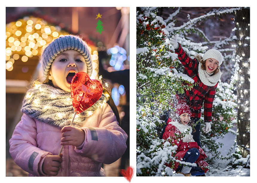
<path id="1" fill-rule="evenodd" d="M 250 154 L 250 9 L 235 12 L 235 56 L 239 56 L 237 146 L 242 156 Z"/>

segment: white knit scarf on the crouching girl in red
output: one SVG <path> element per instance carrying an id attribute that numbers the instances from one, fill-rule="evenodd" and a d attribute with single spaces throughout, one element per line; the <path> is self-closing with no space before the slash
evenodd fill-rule
<path id="1" fill-rule="evenodd" d="M 183 134 L 183 136 L 185 135 L 185 137 L 183 137 L 182 142 L 195 142 L 192 136 L 192 127 L 189 125 L 183 125 L 182 123 L 179 123 L 177 121 L 171 121 L 169 122 L 172 125 L 174 125 L 175 127 L 178 128 L 178 130 L 180 131 L 181 134 Z M 189 131 L 188 131 L 189 130 Z"/>

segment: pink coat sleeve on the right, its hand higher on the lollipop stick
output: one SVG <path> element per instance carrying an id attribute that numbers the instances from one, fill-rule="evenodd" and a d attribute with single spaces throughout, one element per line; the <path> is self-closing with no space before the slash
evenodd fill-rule
<path id="1" fill-rule="evenodd" d="M 93 114 L 94 115 L 94 114 Z M 125 152 L 127 134 L 118 125 L 114 112 L 108 104 L 104 104 L 98 127 L 82 127 L 85 141 L 75 151 L 97 162 L 111 164 Z"/>

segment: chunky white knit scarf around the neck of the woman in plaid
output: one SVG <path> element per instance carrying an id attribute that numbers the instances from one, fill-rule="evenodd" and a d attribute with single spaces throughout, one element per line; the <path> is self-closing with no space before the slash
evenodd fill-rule
<path id="1" fill-rule="evenodd" d="M 200 80 L 207 86 L 215 86 L 221 78 L 221 71 L 219 70 L 218 73 L 211 76 L 205 70 L 201 69 L 201 65 L 202 63 L 199 62 L 198 74 L 199 74 Z"/>

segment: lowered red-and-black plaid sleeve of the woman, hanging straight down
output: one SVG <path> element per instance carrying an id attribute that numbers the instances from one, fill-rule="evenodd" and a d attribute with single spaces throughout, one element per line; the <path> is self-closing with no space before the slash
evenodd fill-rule
<path id="1" fill-rule="evenodd" d="M 218 83 L 215 86 L 210 87 L 209 91 L 204 96 L 204 122 L 212 121 L 212 106 L 217 86 Z"/>

